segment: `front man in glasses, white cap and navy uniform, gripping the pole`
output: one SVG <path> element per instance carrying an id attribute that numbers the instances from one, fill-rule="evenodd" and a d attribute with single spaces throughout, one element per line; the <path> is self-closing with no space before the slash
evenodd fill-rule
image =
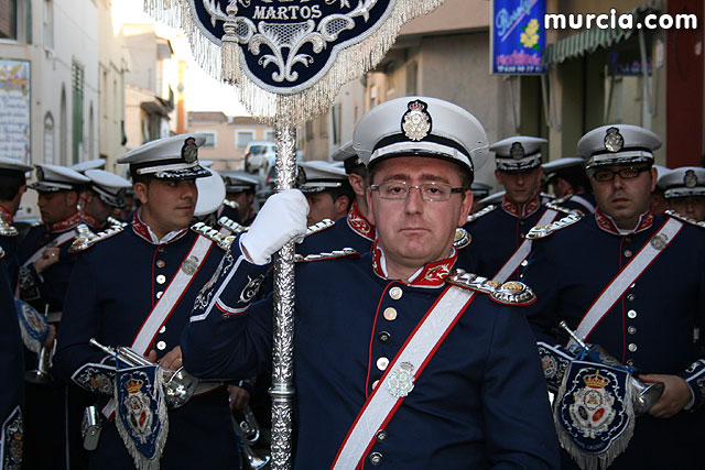
<path id="1" fill-rule="evenodd" d="M 533 337 L 508 306 L 532 302 L 531 291 L 453 270 L 473 168 L 487 154 L 481 124 L 449 102 L 406 97 L 373 108 L 354 141 L 377 242 L 299 264 L 296 468 L 554 468 Z M 197 299 L 187 369 L 237 376 L 271 360 L 272 297 L 251 304 L 252 291 L 305 231 L 301 193 L 267 201 Z"/>

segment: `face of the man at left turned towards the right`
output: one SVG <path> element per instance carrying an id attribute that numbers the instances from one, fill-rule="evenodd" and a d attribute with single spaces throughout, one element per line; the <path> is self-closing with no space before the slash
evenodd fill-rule
<path id="1" fill-rule="evenodd" d="M 188 227 L 196 209 L 198 188 L 194 179 L 152 179 L 137 183 L 134 193 L 142 203 L 142 216 L 155 232 L 169 233 Z"/>

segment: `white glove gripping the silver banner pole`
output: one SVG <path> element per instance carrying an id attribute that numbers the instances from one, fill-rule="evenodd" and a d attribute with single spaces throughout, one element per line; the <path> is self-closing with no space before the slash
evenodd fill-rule
<path id="1" fill-rule="evenodd" d="M 290 241 L 306 234 L 308 203 L 299 189 L 286 189 L 267 199 L 249 230 L 240 236 L 240 249 L 254 264 L 267 264 Z"/>

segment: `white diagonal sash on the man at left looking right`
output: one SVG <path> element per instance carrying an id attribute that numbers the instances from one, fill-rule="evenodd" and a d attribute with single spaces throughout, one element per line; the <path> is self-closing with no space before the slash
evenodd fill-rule
<path id="1" fill-rule="evenodd" d="M 148 352 L 149 346 L 152 343 L 154 336 L 162 327 L 164 321 L 172 314 L 178 300 L 183 296 L 184 292 L 191 285 L 191 282 L 194 278 L 194 275 L 198 273 L 200 266 L 203 266 L 203 262 L 206 260 L 206 254 L 208 254 L 208 250 L 213 245 L 213 240 L 198 236 L 196 242 L 191 247 L 191 251 L 184 256 L 182 261 L 181 269 L 172 277 L 171 283 L 162 294 L 162 298 L 159 299 L 152 311 L 147 317 L 144 323 L 142 324 L 142 328 L 134 337 L 132 345 L 130 346 L 134 352 L 144 356 Z M 195 264 L 192 264 L 188 269 L 188 272 L 184 270 L 184 263 L 186 260 L 193 260 L 195 258 Z M 191 274 L 189 274 L 191 272 Z M 112 417 L 115 413 L 115 402 L 112 398 L 102 408 L 102 414 L 107 417 Z"/>

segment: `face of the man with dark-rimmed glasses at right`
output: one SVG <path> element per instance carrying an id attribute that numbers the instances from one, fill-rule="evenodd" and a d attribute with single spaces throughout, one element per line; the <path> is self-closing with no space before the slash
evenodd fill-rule
<path id="1" fill-rule="evenodd" d="M 646 168 L 644 165 L 633 167 Z M 607 173 L 625 168 L 628 168 L 628 166 L 599 168 L 590 177 L 590 183 L 600 210 L 615 219 L 619 228 L 632 229 L 639 220 L 639 216 L 649 210 L 651 193 L 657 185 L 657 171 L 649 168 L 633 178 L 622 178 L 619 174 L 615 174 L 609 182 L 595 179 L 598 172 Z M 628 225 L 622 227 L 619 223 L 620 221 L 627 221 Z M 631 222 L 633 225 L 629 227 Z"/>

